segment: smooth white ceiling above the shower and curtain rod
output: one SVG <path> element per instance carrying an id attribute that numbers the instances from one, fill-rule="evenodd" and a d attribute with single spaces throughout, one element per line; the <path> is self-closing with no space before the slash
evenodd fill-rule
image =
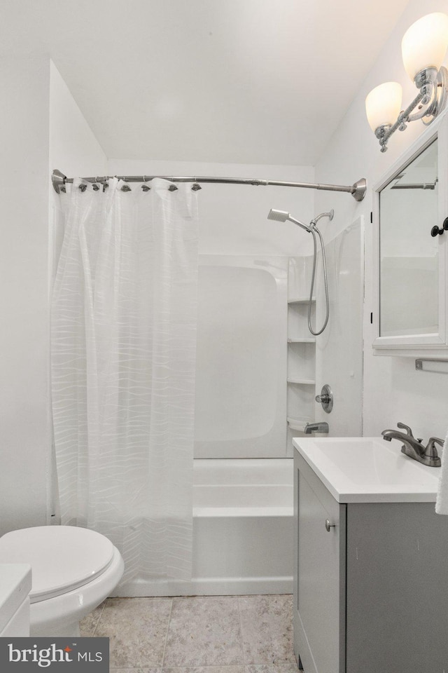
<path id="1" fill-rule="evenodd" d="M 314 165 L 407 1 L 0 0 L 0 55 L 50 55 L 109 158 Z"/>

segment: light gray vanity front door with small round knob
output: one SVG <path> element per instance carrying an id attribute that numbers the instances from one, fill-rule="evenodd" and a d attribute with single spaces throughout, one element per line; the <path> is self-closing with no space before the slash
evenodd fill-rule
<path id="1" fill-rule="evenodd" d="M 307 673 L 342 673 L 345 505 L 306 471 L 299 471 L 297 482 L 297 649 Z"/>

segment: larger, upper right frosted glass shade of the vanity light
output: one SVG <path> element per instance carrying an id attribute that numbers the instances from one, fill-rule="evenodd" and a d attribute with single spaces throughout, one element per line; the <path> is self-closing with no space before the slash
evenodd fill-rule
<path id="1" fill-rule="evenodd" d="M 401 41 L 405 70 L 414 81 L 425 68 L 440 69 L 448 48 L 448 16 L 427 14 L 410 26 Z"/>

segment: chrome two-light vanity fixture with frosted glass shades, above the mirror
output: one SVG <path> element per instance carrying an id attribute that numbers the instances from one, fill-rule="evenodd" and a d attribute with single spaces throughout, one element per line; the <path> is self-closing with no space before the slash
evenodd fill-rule
<path id="1" fill-rule="evenodd" d="M 377 86 L 365 99 L 367 119 L 379 140 L 381 152 L 386 151 L 387 141 L 397 129 L 404 131 L 407 123 L 416 119 L 428 125 L 444 109 L 448 96 L 448 72 L 442 62 L 447 48 L 446 14 L 428 14 L 407 29 L 401 43 L 402 59 L 419 93 L 402 111 L 402 92 L 398 82 Z"/>

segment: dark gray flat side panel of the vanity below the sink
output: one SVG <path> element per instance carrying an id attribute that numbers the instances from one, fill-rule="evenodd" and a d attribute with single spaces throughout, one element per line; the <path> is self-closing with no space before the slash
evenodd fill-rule
<path id="1" fill-rule="evenodd" d="M 448 671 L 448 526 L 434 503 L 347 505 L 347 673 Z"/>

